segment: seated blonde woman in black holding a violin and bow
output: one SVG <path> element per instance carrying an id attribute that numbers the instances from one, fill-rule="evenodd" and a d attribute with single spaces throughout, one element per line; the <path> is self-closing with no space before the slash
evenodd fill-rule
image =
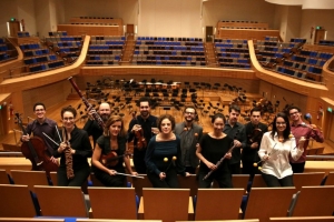
<path id="1" fill-rule="evenodd" d="M 130 159 L 127 154 L 127 139 L 121 117 L 111 115 L 106 122 L 104 134 L 97 140 L 92 153 L 92 171 L 95 176 L 106 186 L 125 186 L 126 178 L 122 163 L 131 175 Z"/>

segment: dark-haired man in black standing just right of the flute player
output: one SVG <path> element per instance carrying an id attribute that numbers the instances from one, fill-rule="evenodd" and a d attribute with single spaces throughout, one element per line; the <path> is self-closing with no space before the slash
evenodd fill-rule
<path id="1" fill-rule="evenodd" d="M 235 145 L 235 148 L 232 152 L 229 165 L 232 174 L 239 174 L 242 160 L 240 149 L 246 147 L 247 138 L 245 132 L 245 125 L 238 122 L 238 118 L 240 115 L 240 108 L 236 104 L 232 104 L 229 105 L 228 112 L 228 120 L 223 129 L 223 132 L 229 138 L 234 139 L 234 144 L 232 145 Z"/>

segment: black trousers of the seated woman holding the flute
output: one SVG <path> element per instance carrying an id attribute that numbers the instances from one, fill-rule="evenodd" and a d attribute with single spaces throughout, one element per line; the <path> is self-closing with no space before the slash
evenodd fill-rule
<path id="1" fill-rule="evenodd" d="M 198 188 L 210 188 L 214 180 L 216 180 L 219 184 L 219 188 L 233 188 L 232 184 L 232 174 L 215 171 L 207 179 L 204 180 L 204 176 L 208 173 L 206 170 L 202 170 L 199 168 L 197 179 L 198 179 Z"/>

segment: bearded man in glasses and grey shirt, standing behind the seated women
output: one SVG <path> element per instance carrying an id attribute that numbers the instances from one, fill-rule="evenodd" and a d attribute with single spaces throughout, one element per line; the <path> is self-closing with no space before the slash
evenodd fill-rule
<path id="1" fill-rule="evenodd" d="M 196 144 L 203 134 L 203 128 L 195 123 L 196 115 L 194 107 L 186 107 L 184 111 L 185 121 L 175 125 L 175 134 L 180 137 L 181 162 L 186 167 L 186 172 L 191 174 L 195 174 L 199 164 Z"/>

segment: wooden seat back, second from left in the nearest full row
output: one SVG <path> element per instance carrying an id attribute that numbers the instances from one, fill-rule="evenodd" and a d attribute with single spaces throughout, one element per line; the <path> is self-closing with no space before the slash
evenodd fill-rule
<path id="1" fill-rule="evenodd" d="M 35 185 L 43 216 L 88 218 L 80 188 Z"/>

